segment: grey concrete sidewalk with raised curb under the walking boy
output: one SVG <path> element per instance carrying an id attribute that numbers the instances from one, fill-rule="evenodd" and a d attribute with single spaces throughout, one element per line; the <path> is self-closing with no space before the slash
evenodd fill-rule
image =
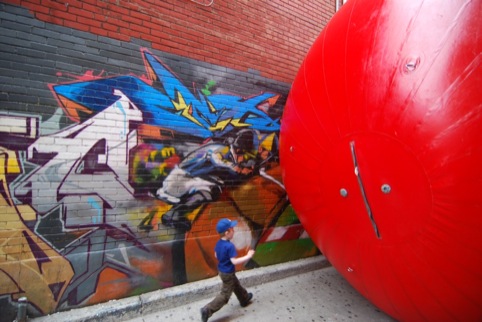
<path id="1" fill-rule="evenodd" d="M 356 292 L 324 256 L 238 272 L 254 294 L 241 308 L 233 295 L 209 321 L 393 321 Z M 200 308 L 220 290 L 219 277 L 30 321 L 200 321 Z"/>

